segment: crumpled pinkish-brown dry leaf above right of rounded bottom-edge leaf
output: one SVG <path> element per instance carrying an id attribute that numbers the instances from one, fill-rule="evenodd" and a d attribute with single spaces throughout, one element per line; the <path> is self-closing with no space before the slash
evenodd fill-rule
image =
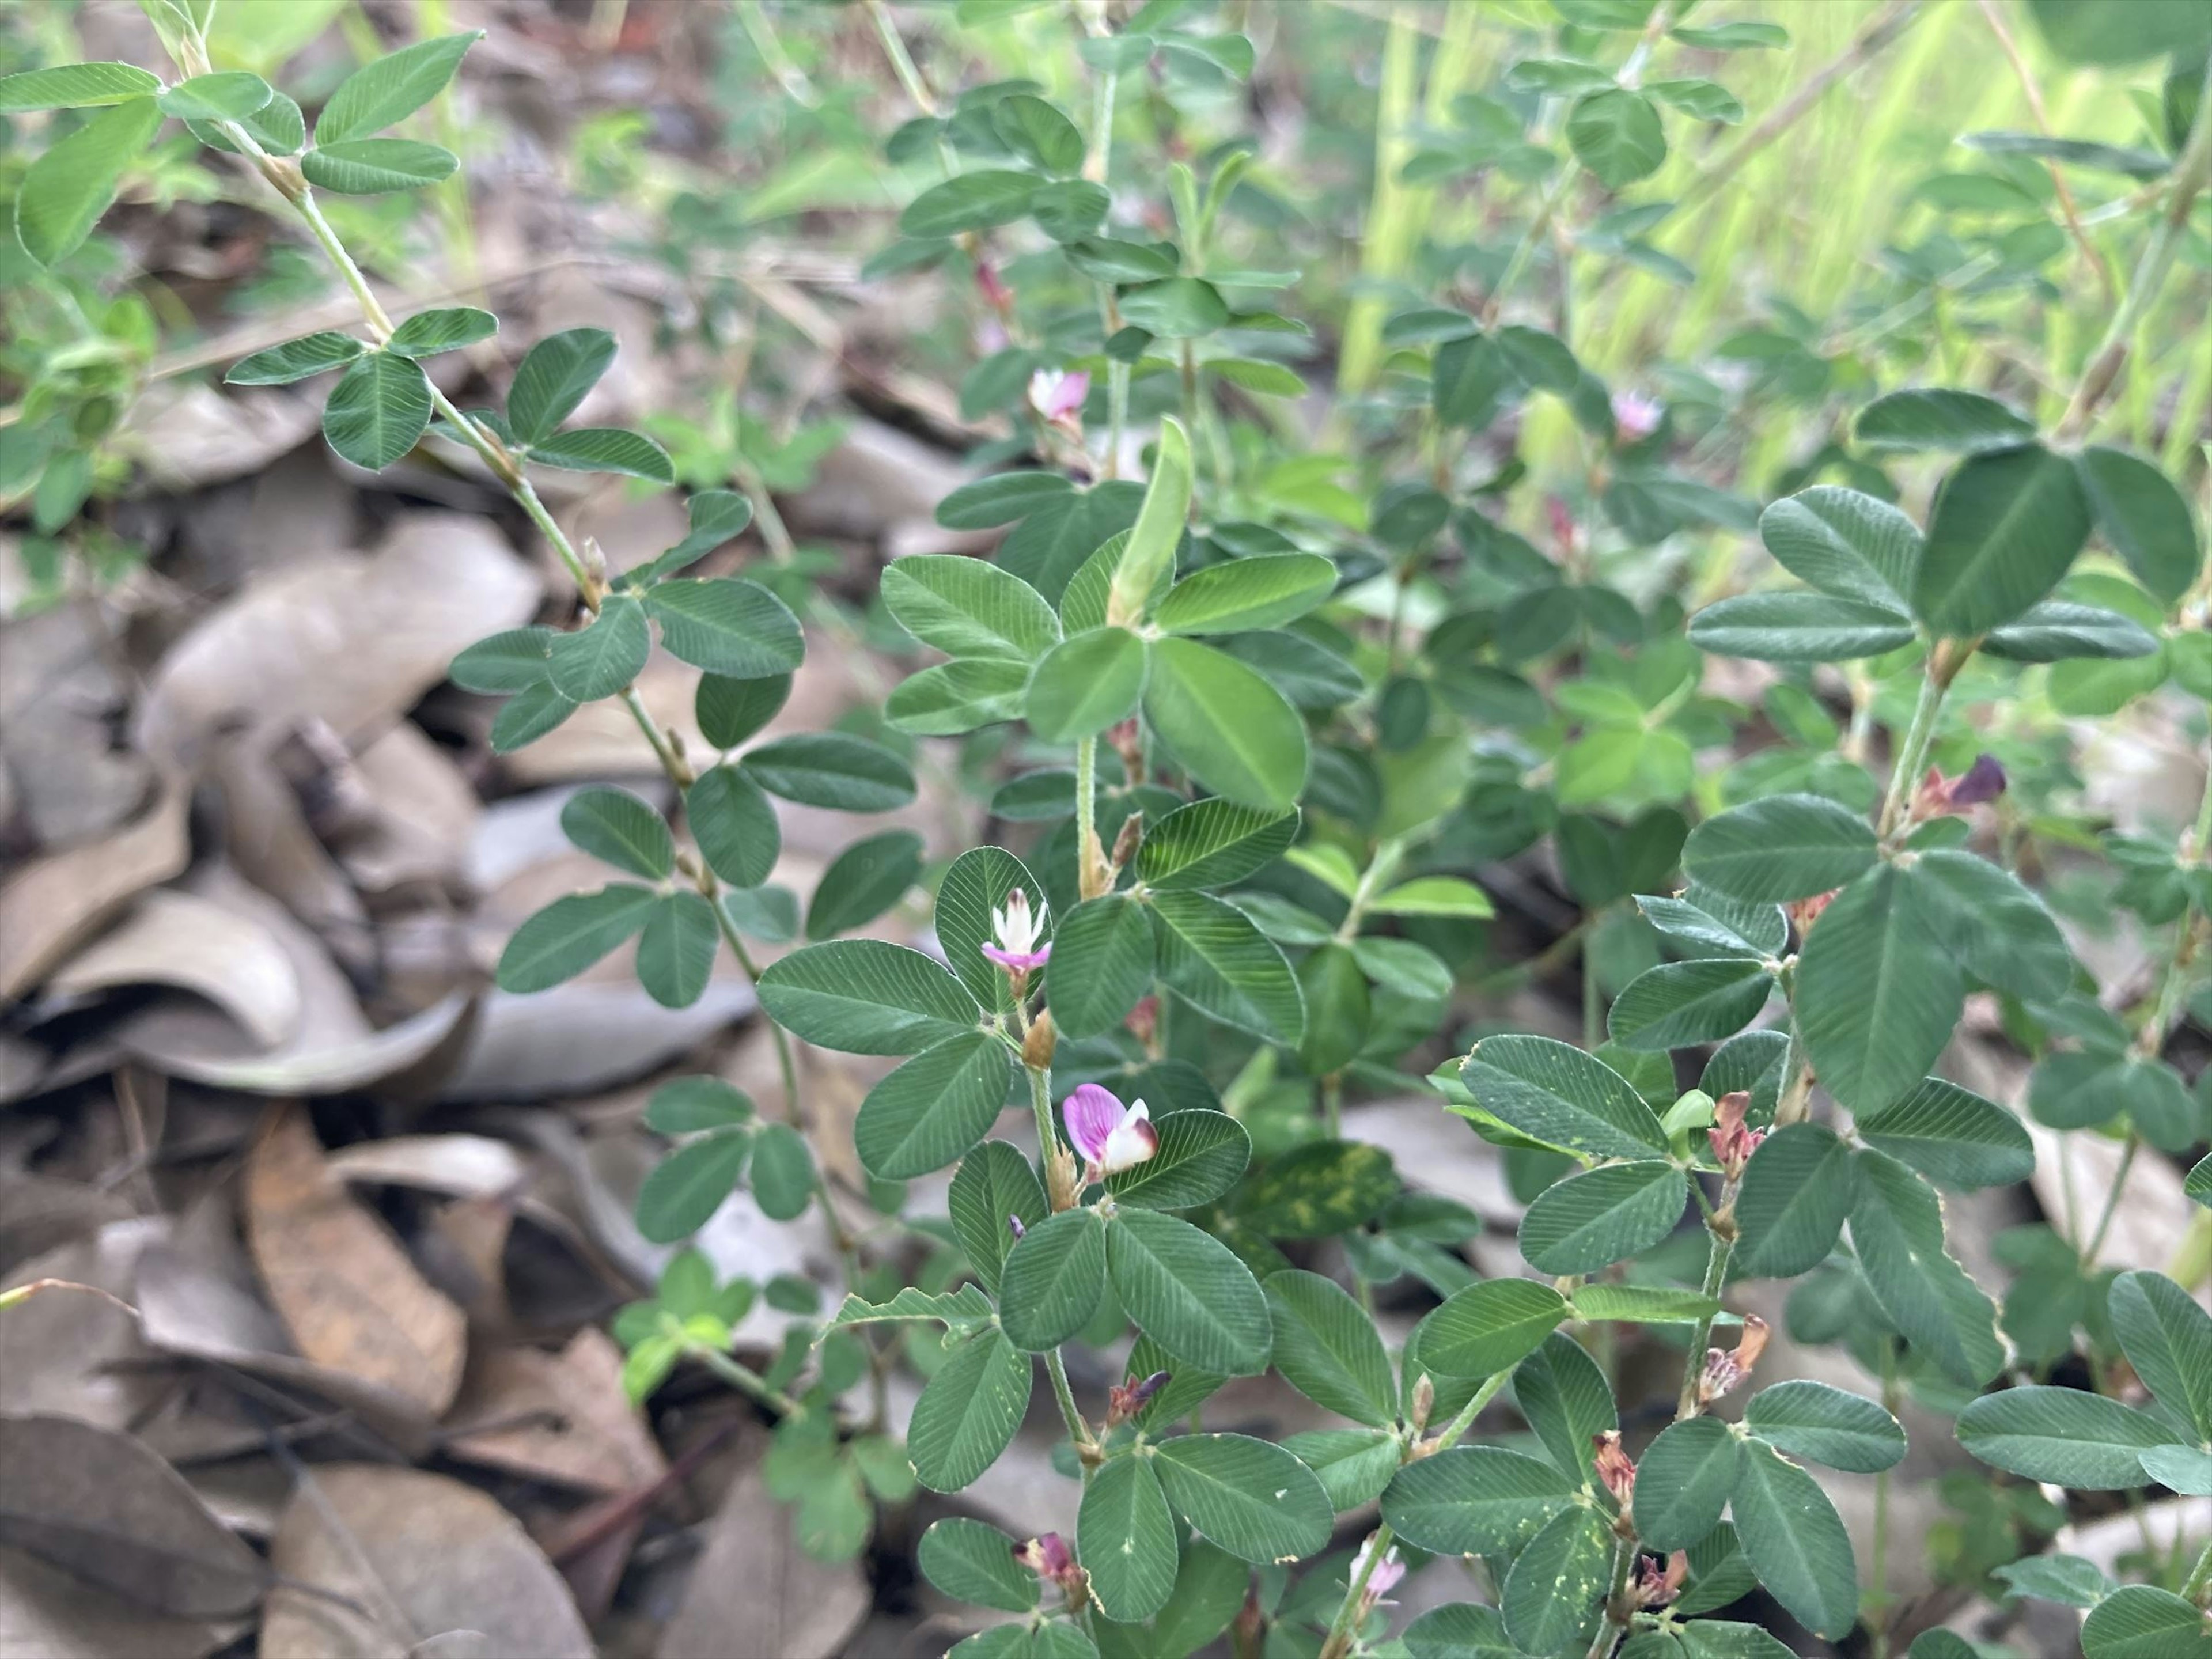
<path id="1" fill-rule="evenodd" d="M 644 1418 L 622 1391 L 622 1349 L 586 1325 L 560 1354 L 507 1347 L 480 1354 L 449 1413 L 447 1455 L 513 1469 L 584 1491 L 619 1493 L 668 1469 Z"/>

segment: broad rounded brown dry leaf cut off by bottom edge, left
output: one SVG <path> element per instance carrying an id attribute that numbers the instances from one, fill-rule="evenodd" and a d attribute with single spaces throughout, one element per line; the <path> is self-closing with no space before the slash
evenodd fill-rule
<path id="1" fill-rule="evenodd" d="M 374 1617 L 279 1586 L 261 1619 L 263 1659 L 403 1659 L 458 1632 L 480 1637 L 462 1648 L 473 1659 L 593 1659 L 568 1586 L 484 1493 L 380 1464 L 321 1464 L 310 1480 L 276 1526 L 270 1566 Z"/>

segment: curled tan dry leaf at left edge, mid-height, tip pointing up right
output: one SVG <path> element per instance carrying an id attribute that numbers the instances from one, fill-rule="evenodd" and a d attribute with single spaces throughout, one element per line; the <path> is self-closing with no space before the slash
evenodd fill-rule
<path id="1" fill-rule="evenodd" d="M 186 801 L 184 783 L 166 779 L 135 823 L 33 858 L 0 885 L 0 1004 L 38 984 L 131 898 L 184 869 Z"/>

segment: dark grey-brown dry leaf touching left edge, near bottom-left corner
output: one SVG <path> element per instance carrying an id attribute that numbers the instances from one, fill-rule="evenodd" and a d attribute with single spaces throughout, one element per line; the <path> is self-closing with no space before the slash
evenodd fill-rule
<path id="1" fill-rule="evenodd" d="M 268 1584 L 184 1475 L 75 1418 L 0 1418 L 0 1542 L 177 1619 L 237 1617 Z"/>

